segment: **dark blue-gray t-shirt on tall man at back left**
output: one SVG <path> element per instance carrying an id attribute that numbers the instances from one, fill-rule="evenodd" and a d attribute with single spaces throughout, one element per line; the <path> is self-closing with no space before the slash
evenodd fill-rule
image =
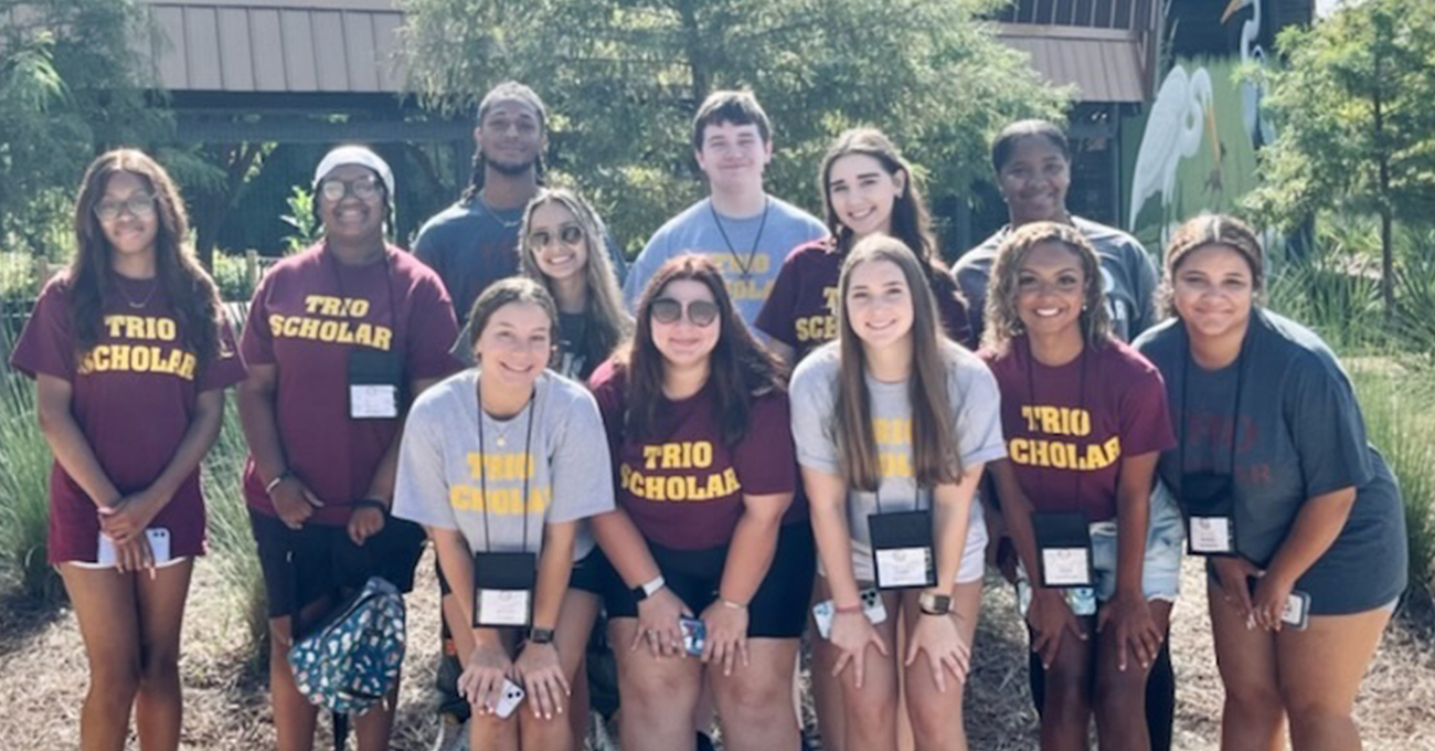
<path id="1" fill-rule="evenodd" d="M 413 240 L 413 254 L 443 280 L 461 326 L 468 320 L 474 300 L 489 284 L 518 274 L 518 230 L 522 220 L 522 207 L 498 211 L 475 198 L 439 211 L 419 230 L 419 237 Z M 621 283 L 626 273 L 623 251 L 607 227 L 601 228 L 613 271 Z"/>

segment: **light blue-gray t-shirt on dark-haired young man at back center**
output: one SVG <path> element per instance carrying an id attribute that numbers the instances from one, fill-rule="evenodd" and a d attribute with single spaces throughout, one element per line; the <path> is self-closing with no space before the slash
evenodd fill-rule
<path id="1" fill-rule="evenodd" d="M 765 214 L 766 220 L 763 213 L 745 218 L 722 217 L 719 228 L 713 220 L 716 214 L 712 198 L 687 207 L 667 220 L 633 261 L 627 283 L 623 284 L 623 303 L 633 310 L 663 263 L 683 253 L 697 253 L 712 258 L 722 270 L 733 306 L 748 326 L 752 326 L 788 253 L 827 237 L 827 227 L 821 221 L 779 198 L 768 197 Z M 748 270 L 746 276 L 743 269 Z"/>

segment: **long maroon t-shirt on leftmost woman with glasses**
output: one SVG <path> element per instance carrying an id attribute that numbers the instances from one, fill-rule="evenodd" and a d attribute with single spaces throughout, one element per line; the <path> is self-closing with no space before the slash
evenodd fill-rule
<path id="1" fill-rule="evenodd" d="M 199 362 L 187 349 L 158 280 L 109 279 L 118 289 L 103 293 L 103 322 L 93 349 L 76 352 L 70 284 L 62 274 L 40 293 L 10 363 L 32 378 L 44 373 L 70 383 L 75 422 L 105 475 L 128 495 L 149 487 L 169 465 L 194 419 L 198 395 L 244 381 L 244 362 L 228 323 L 215 356 Z M 172 556 L 205 551 L 198 468 L 151 527 L 169 530 Z M 49 561 L 95 561 L 98 547 L 98 507 L 56 461 L 50 468 Z"/>

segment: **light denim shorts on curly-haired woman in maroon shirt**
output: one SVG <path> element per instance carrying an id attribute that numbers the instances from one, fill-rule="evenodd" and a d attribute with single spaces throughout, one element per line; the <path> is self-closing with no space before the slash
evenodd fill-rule
<path id="1" fill-rule="evenodd" d="M 1151 494 L 1149 526 L 1147 531 L 1147 559 L 1141 567 L 1141 590 L 1148 600 L 1175 602 L 1181 593 L 1181 554 L 1185 544 L 1185 527 L 1181 510 L 1165 485 L 1157 482 Z M 1096 615 L 1096 603 L 1116 594 L 1116 521 L 1096 521 L 1091 526 L 1091 564 L 1095 569 L 1093 587 L 1071 587 L 1066 605 L 1079 616 Z M 1017 606 L 1022 615 L 1032 602 L 1026 570 L 1017 566 Z"/>

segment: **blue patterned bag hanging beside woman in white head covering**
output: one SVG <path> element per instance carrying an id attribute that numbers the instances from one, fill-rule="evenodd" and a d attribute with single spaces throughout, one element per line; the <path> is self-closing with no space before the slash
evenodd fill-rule
<path id="1" fill-rule="evenodd" d="M 290 648 L 298 692 L 336 718 L 380 702 L 399 681 L 403 615 L 397 587 L 370 577 L 337 613 Z"/>

